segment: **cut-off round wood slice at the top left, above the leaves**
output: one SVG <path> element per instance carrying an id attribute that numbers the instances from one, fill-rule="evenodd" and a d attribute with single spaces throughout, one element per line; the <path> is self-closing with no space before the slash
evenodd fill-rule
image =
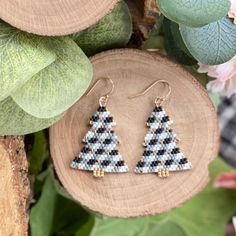
<path id="1" fill-rule="evenodd" d="M 1 0 L 0 18 L 39 35 L 67 35 L 90 27 L 118 0 Z"/>

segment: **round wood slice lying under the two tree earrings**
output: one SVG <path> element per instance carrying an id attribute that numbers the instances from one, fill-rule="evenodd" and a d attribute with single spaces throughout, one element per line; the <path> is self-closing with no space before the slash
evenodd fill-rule
<path id="1" fill-rule="evenodd" d="M 52 158 L 67 191 L 89 209 L 118 217 L 168 211 L 201 191 L 208 182 L 208 164 L 216 156 L 219 144 L 216 112 L 204 88 L 182 67 L 147 52 L 111 50 L 93 57 L 92 63 L 93 83 L 101 77 L 114 82 L 107 108 L 117 123 L 119 151 L 130 172 L 105 173 L 97 179 L 92 172 L 69 167 L 83 147 L 81 140 L 90 129 L 88 121 L 98 108 L 99 97 L 110 90 L 104 80 L 50 129 Z M 180 139 L 181 151 L 193 164 L 192 170 L 170 172 L 166 179 L 133 172 L 143 153 L 146 120 L 154 109 L 154 99 L 166 91 L 157 85 L 145 96 L 128 99 L 160 79 L 171 85 L 172 93 L 164 109 L 174 121 L 172 128 Z"/>

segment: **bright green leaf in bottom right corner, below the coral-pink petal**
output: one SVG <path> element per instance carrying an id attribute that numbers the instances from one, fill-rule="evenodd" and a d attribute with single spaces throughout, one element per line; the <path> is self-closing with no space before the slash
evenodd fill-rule
<path id="1" fill-rule="evenodd" d="M 207 236 L 225 235 L 225 225 L 236 210 L 236 192 L 216 189 L 212 185 L 219 173 L 230 171 L 231 168 L 220 159 L 216 159 L 211 163 L 210 170 L 211 181 L 204 191 L 183 207 L 157 216 L 156 219 L 177 223 L 186 235 L 199 236 L 203 232 Z"/>

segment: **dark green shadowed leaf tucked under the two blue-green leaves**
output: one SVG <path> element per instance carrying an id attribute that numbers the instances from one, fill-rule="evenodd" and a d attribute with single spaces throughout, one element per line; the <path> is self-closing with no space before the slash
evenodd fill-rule
<path id="1" fill-rule="evenodd" d="M 186 48 L 179 31 L 179 25 L 164 18 L 163 29 L 165 34 L 165 48 L 168 56 L 180 64 L 195 65 L 197 61 Z"/>

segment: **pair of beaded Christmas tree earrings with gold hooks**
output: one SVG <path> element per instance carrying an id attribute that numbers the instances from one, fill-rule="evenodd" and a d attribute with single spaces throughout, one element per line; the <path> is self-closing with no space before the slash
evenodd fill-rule
<path id="1" fill-rule="evenodd" d="M 110 78 L 104 79 L 111 83 L 112 88 L 109 93 L 100 97 L 99 108 L 90 119 L 92 127 L 83 139 L 84 147 L 70 165 L 74 169 L 93 171 L 95 177 L 103 177 L 105 172 L 129 171 L 117 148 L 119 140 L 113 130 L 116 124 L 106 108 L 107 101 L 114 91 L 114 83 Z M 100 80 L 93 85 L 86 96 L 91 93 Z M 165 80 L 157 80 L 144 92 L 130 98 L 145 95 L 158 83 L 167 85 L 168 93 L 166 96 L 155 99 L 155 108 L 147 120 L 149 129 L 144 138 L 144 152 L 134 171 L 136 173 L 157 173 L 159 177 L 164 178 L 169 176 L 169 171 L 192 168 L 191 162 L 177 146 L 177 136 L 170 128 L 173 122 L 162 107 L 163 102 L 171 94 L 171 86 Z"/>

